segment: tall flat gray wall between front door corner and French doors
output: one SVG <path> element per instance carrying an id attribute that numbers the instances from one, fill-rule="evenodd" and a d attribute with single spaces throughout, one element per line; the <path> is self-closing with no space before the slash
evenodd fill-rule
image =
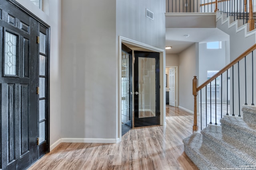
<path id="1" fill-rule="evenodd" d="M 62 138 L 116 138 L 116 1 L 62 0 Z"/>

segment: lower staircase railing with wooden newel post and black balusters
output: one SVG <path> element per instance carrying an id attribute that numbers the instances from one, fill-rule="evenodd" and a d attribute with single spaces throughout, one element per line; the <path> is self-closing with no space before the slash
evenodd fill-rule
<path id="1" fill-rule="evenodd" d="M 241 116 L 240 106 L 242 104 L 247 105 L 248 99 L 250 99 L 251 105 L 254 105 L 255 60 L 253 59 L 253 53 L 255 49 L 256 44 L 200 86 L 198 86 L 198 79 L 194 76 L 193 132 L 198 131 L 197 113 L 200 113 L 200 125 L 202 130 L 207 124 L 212 124 L 213 121 L 215 121 L 215 125 L 220 125 L 219 120 L 222 118 L 223 112 L 226 113 L 226 115 L 232 113 L 232 116 Z M 198 93 L 200 93 L 200 95 L 198 95 Z M 204 98 L 202 98 L 202 95 Z M 197 96 L 199 96 L 199 98 L 197 98 Z M 200 106 L 198 106 L 197 103 Z M 198 108 L 200 108 L 199 112 L 197 111 Z M 202 119 L 205 119 L 205 124 Z"/>

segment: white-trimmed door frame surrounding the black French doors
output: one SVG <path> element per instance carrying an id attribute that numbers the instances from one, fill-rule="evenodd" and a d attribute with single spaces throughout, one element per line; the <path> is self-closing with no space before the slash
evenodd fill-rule
<path id="1" fill-rule="evenodd" d="M 165 55 L 164 55 L 164 50 L 163 49 L 159 49 L 156 47 L 152 47 L 150 45 L 146 45 L 144 43 L 140 43 L 138 41 L 134 41 L 131 39 L 127 39 L 125 37 L 119 37 L 119 99 L 118 99 L 118 107 L 119 107 L 119 111 L 117 113 L 117 117 L 119 118 L 118 121 L 118 129 L 116 131 L 116 133 L 118 134 L 118 141 L 122 141 L 122 44 L 126 45 L 128 48 L 132 49 L 132 51 L 141 51 L 142 53 L 157 53 L 158 54 L 158 64 L 159 67 L 157 68 L 157 71 L 159 72 L 159 80 L 158 83 L 159 85 L 159 92 L 157 92 L 157 98 L 159 98 L 158 103 L 159 103 L 159 107 L 158 107 L 158 113 L 156 113 L 157 118 L 158 118 L 158 123 L 160 125 L 165 125 L 165 98 L 164 98 L 164 93 L 165 93 L 165 84 L 164 84 L 164 80 L 165 80 Z M 141 56 L 140 56 L 141 57 Z M 146 57 L 146 56 L 145 56 Z M 135 61 L 135 56 L 134 54 L 132 54 L 132 63 L 134 63 Z M 156 60 L 155 60 L 156 61 Z M 143 63 L 143 62 L 142 62 Z M 132 64 L 133 68 L 132 68 L 132 75 L 134 75 L 134 64 Z M 156 69 L 156 68 L 154 68 Z M 132 81 L 134 82 L 134 76 L 132 78 Z M 139 92 L 136 91 L 138 94 L 135 94 L 135 90 L 134 90 L 134 83 L 132 86 L 132 92 L 130 94 L 132 94 L 132 98 L 134 99 L 134 95 L 138 95 L 139 96 Z M 156 100 L 155 100 L 156 101 Z M 132 105 L 132 127 L 134 127 L 134 105 Z M 148 117 L 146 117 L 148 118 Z"/>

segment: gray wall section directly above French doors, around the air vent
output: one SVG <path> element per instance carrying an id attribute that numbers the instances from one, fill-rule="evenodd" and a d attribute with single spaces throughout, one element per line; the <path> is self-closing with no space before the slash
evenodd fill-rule
<path id="1" fill-rule="evenodd" d="M 154 12 L 154 20 L 146 18 L 146 8 Z M 122 36 L 164 49 L 164 12 L 165 0 L 116 0 L 117 38 Z"/>

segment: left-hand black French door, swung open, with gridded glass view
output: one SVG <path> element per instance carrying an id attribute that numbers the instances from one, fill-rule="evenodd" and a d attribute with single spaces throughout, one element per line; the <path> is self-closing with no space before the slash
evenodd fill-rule
<path id="1" fill-rule="evenodd" d="M 122 44 L 122 135 L 132 128 L 132 50 Z"/>

